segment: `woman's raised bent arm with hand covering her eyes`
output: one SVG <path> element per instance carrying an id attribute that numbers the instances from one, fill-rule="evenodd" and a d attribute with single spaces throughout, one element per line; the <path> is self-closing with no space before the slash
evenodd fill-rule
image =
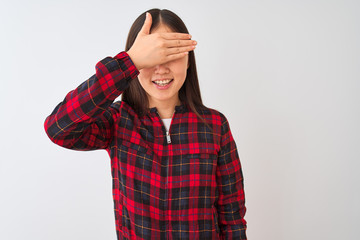
<path id="1" fill-rule="evenodd" d="M 143 68 L 172 61 L 193 50 L 193 41 L 186 33 L 150 34 L 148 13 L 133 45 L 114 58 L 96 64 L 96 74 L 69 92 L 45 120 L 49 138 L 70 149 L 107 148 L 118 107 L 111 106 Z"/>

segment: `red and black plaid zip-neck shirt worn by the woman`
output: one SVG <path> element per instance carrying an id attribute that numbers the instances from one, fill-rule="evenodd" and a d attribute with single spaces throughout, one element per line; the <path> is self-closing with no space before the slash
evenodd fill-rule
<path id="1" fill-rule="evenodd" d="M 44 123 L 54 143 L 106 149 L 118 239 L 246 239 L 243 174 L 225 116 L 175 107 L 169 132 L 157 109 L 140 117 L 114 100 L 139 74 L 120 52 L 70 91 Z"/>

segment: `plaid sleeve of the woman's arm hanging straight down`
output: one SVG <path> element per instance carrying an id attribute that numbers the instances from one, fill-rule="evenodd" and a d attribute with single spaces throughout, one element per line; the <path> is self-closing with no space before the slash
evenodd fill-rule
<path id="1" fill-rule="evenodd" d="M 219 198 L 217 211 L 221 239 L 247 239 L 244 179 L 236 143 L 223 116 L 216 169 Z"/>

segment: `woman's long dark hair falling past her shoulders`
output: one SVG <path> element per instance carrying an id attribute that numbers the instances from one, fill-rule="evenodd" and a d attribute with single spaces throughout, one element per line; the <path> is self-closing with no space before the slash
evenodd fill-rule
<path id="1" fill-rule="evenodd" d="M 163 24 L 169 27 L 173 32 L 189 33 L 184 22 L 170 10 L 153 8 L 146 12 L 149 12 L 152 17 L 150 31 L 160 24 Z M 134 41 L 145 22 L 146 12 L 142 13 L 132 24 L 127 37 L 125 51 L 128 51 L 134 44 Z M 206 107 L 203 105 L 201 99 L 194 51 L 190 51 L 188 57 L 189 67 L 187 69 L 185 82 L 179 90 L 179 99 L 182 103 L 187 104 L 196 116 L 211 129 L 205 119 L 199 114 L 199 111 Z M 122 93 L 121 100 L 128 103 L 140 116 L 149 111 L 149 101 L 138 78 L 135 78 L 130 82 L 129 87 Z"/>

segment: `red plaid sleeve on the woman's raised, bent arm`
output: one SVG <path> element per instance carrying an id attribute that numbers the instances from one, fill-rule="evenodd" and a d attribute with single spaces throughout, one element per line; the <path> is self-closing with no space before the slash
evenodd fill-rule
<path id="1" fill-rule="evenodd" d="M 106 57 L 96 73 L 70 91 L 45 119 L 45 132 L 52 142 L 74 150 L 106 149 L 119 107 L 113 101 L 139 74 L 123 51 Z"/>

